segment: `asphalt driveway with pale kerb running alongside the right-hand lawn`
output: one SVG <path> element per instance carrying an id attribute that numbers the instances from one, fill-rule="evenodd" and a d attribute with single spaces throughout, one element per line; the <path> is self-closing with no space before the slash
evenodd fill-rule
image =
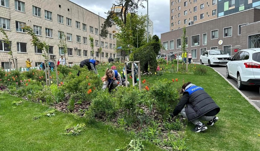
<path id="1" fill-rule="evenodd" d="M 193 62 L 193 64 L 200 64 L 200 62 Z M 207 65 L 207 64 L 206 64 Z M 255 86 L 247 86 L 245 90 L 237 89 L 237 81 L 226 78 L 226 65 L 213 65 L 212 67 L 219 73 L 229 84 L 234 87 L 249 103 L 251 103 L 260 112 L 260 88 Z"/>

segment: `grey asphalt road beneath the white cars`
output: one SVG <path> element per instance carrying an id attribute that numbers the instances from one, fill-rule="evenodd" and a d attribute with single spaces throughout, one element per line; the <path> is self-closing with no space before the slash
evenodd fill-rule
<path id="1" fill-rule="evenodd" d="M 195 64 L 200 64 L 200 62 L 194 62 Z M 222 74 L 226 78 L 226 65 L 216 65 L 213 68 Z M 227 79 L 231 82 L 235 87 L 237 87 L 237 81 L 234 79 Z M 241 90 L 246 97 L 249 98 L 255 105 L 260 108 L 260 94 L 259 94 L 259 87 L 248 86 L 245 90 Z"/>

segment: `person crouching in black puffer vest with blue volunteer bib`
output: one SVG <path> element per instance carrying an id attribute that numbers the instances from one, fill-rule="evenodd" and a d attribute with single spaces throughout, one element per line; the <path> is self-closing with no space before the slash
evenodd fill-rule
<path id="1" fill-rule="evenodd" d="M 183 96 L 173 113 L 171 113 L 171 117 L 181 113 L 182 116 L 195 125 L 193 131 L 197 133 L 207 129 L 205 124 L 201 123 L 200 120 L 208 121 L 207 125 L 210 126 L 216 123 L 219 118 L 215 115 L 219 113 L 220 108 L 202 87 L 188 82 L 181 89 L 180 93 Z M 187 106 L 185 107 L 185 105 Z"/>

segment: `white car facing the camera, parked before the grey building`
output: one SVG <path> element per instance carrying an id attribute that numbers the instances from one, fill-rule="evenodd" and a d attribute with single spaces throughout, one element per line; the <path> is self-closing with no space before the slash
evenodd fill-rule
<path id="1" fill-rule="evenodd" d="M 200 55 L 200 64 L 212 65 L 225 65 L 227 64 L 227 58 L 230 57 L 229 54 L 222 50 L 206 50 Z"/>

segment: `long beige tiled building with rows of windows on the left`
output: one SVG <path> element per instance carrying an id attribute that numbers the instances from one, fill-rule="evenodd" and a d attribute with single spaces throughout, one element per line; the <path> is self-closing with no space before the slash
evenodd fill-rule
<path id="1" fill-rule="evenodd" d="M 100 26 L 105 18 L 100 17 Z M 0 27 L 5 29 L 11 41 L 13 56 L 18 58 L 18 67 L 25 67 L 26 58 L 33 61 L 32 66 L 43 62 L 42 51 L 31 45 L 31 36 L 24 33 L 21 24 L 34 29 L 38 38 L 50 45 L 49 54 L 58 60 L 64 52 L 58 46 L 60 35 L 65 35 L 68 53 L 65 55 L 67 64 L 76 64 L 87 58 L 108 61 L 115 58 L 116 39 L 109 28 L 108 38 L 99 40 L 99 16 L 68 0 L 1 0 Z M 94 54 L 91 54 L 89 35 L 94 39 Z M 0 34 L 0 41 L 3 34 Z M 98 48 L 101 45 L 102 54 Z M 9 69 L 8 48 L 0 42 L 1 67 Z M 101 57 L 101 58 L 100 58 Z"/>

